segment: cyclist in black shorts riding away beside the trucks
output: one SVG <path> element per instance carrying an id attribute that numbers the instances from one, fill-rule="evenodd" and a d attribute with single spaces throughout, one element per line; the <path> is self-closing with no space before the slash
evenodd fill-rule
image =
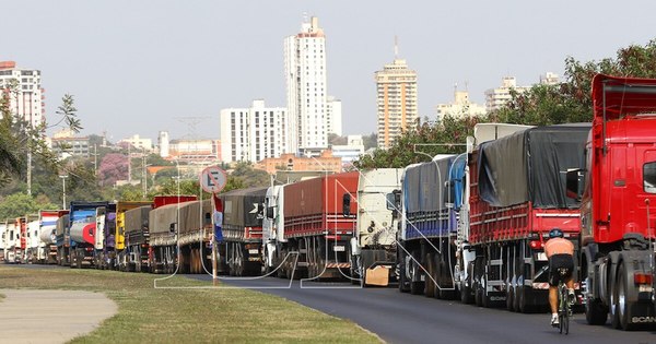
<path id="1" fill-rule="evenodd" d="M 549 240 L 544 244 L 544 253 L 549 259 L 549 305 L 551 306 L 551 325 L 559 325 L 558 320 L 558 284 L 561 278 L 564 280 L 569 289 L 569 301 L 574 303 L 574 244 L 563 238 L 563 232 L 560 228 L 553 228 L 549 232 Z M 564 268 L 567 273 L 561 276 L 559 269 Z"/>

